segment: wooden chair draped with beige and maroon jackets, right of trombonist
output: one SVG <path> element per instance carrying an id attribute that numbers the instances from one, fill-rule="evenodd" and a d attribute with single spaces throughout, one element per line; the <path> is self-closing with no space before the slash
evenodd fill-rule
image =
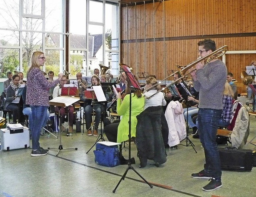
<path id="1" fill-rule="evenodd" d="M 238 106 L 240 106 L 240 108 Z M 248 109 L 245 106 L 242 106 L 239 101 L 234 102 L 233 108 L 234 107 L 236 107 L 233 113 L 234 117 L 228 126 L 228 129 L 218 129 L 217 135 L 229 138 L 232 146 L 243 148 L 249 136 Z"/>

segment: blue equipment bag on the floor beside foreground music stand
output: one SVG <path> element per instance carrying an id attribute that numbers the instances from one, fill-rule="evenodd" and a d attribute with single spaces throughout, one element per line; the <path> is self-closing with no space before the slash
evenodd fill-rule
<path id="1" fill-rule="evenodd" d="M 120 165 L 118 146 L 105 146 L 96 144 L 96 150 L 93 151 L 95 162 L 99 165 L 114 167 Z"/>

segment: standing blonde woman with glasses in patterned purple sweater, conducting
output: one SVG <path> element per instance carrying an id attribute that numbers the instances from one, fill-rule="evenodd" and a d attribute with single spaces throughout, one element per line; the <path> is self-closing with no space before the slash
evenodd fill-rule
<path id="1" fill-rule="evenodd" d="M 39 138 L 44 120 L 49 107 L 48 90 L 60 82 L 62 73 L 52 83 L 44 77 L 40 67 L 44 65 L 45 57 L 41 51 L 35 51 L 31 56 L 31 66 L 27 72 L 26 104 L 29 104 L 32 112 L 32 152 L 31 156 L 43 156 L 48 150 L 40 147 Z M 31 124 L 30 124 L 31 125 Z"/>

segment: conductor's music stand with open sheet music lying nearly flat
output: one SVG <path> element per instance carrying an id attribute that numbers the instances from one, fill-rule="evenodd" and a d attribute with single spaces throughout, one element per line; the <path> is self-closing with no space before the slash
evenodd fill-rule
<path id="1" fill-rule="evenodd" d="M 76 97 L 65 97 L 65 96 L 60 96 L 60 97 L 56 97 L 52 100 L 49 100 L 49 104 L 50 105 L 56 105 L 58 107 L 66 107 L 66 106 L 70 106 L 72 104 L 74 104 L 75 102 L 79 101 L 80 98 L 76 98 Z M 61 124 L 60 124 L 60 108 L 59 108 L 59 128 L 60 128 Z M 59 135 L 60 135 L 60 145 L 58 148 L 49 148 L 50 149 L 58 149 L 58 153 L 56 154 L 56 156 L 58 156 L 60 150 L 63 149 L 72 149 L 72 150 L 77 150 L 77 148 L 63 148 L 62 143 L 61 143 L 61 131 L 59 131 Z"/>

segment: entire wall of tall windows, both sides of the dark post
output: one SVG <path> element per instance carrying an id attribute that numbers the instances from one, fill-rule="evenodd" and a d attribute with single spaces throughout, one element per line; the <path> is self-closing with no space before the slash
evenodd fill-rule
<path id="1" fill-rule="evenodd" d="M 70 32 L 65 33 L 65 0 L 0 0 L 0 76 L 6 71 L 26 71 L 34 51 L 46 55 L 44 71 L 62 72 L 69 65 L 72 76 L 99 68 L 118 70 L 118 3 L 70 0 Z M 106 18 L 106 20 L 105 20 Z M 69 46 L 65 37 L 68 34 Z M 69 63 L 65 50 L 70 49 Z M 113 57 L 114 56 L 114 57 Z M 12 59 L 10 59 L 12 58 Z M 88 66 L 89 65 L 89 66 Z M 2 72 L 2 73 L 1 73 Z"/>

